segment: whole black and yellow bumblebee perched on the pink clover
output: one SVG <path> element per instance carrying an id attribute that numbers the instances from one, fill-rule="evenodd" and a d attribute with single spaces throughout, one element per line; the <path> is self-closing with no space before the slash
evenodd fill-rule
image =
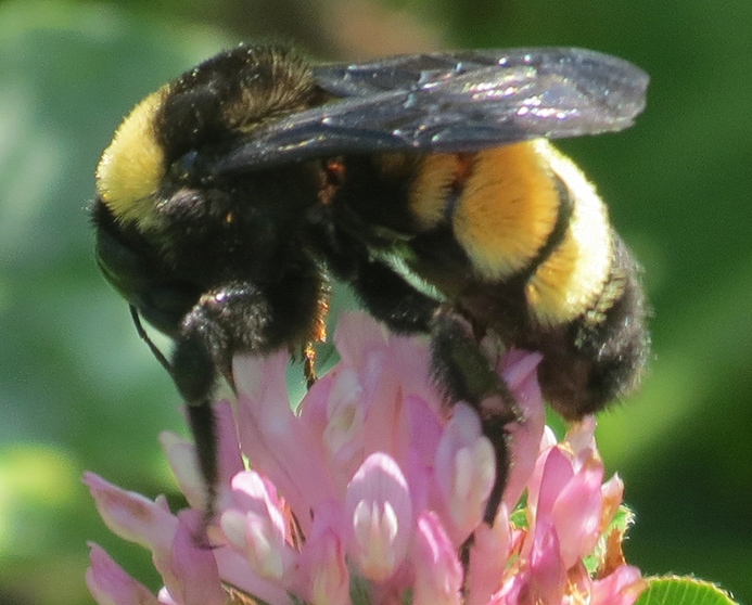
<path id="1" fill-rule="evenodd" d="M 97 260 L 148 343 L 141 318 L 174 339 L 169 360 L 150 346 L 188 402 L 207 515 L 218 379 L 237 352 L 319 339 L 330 275 L 392 330 L 429 334 L 447 400 L 479 410 L 488 522 L 518 412 L 482 338 L 540 351 L 566 419 L 630 391 L 649 355 L 638 267 L 549 140 L 630 126 L 647 83 L 582 49 L 315 65 L 241 46 L 139 103 L 97 169 Z"/>

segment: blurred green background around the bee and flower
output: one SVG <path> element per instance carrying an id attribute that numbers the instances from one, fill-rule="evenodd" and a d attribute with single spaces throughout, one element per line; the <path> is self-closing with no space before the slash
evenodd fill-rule
<path id="1" fill-rule="evenodd" d="M 169 0 L 0 2 L 0 604 L 90 603 L 87 540 L 111 536 L 84 469 L 173 489 L 167 376 L 100 278 L 85 208 L 113 129 L 148 92 L 257 37 L 326 59 L 568 44 L 652 77 L 617 136 L 565 141 L 641 259 L 655 360 L 599 443 L 637 513 L 628 559 L 752 603 L 752 2 Z"/>

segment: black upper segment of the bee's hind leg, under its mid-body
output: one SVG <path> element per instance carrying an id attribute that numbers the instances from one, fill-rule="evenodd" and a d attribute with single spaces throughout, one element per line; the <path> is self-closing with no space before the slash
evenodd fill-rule
<path id="1" fill-rule="evenodd" d="M 350 279 L 362 305 L 399 334 L 429 332 L 438 302 L 378 260 L 364 260 Z"/>

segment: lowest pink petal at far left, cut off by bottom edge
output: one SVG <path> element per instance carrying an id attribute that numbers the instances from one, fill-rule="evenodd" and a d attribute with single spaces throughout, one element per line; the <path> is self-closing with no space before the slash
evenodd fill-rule
<path id="1" fill-rule="evenodd" d="M 117 565 L 99 545 L 89 543 L 91 567 L 86 584 L 99 605 L 157 605 L 156 596 Z"/>

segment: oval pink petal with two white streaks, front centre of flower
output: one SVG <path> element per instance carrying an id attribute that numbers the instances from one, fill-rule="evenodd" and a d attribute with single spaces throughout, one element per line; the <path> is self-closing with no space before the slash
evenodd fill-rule
<path id="1" fill-rule="evenodd" d="M 347 550 L 361 574 L 386 580 L 405 559 L 412 525 L 407 481 L 388 455 L 371 454 L 355 474 L 345 518 L 350 519 Z"/>

